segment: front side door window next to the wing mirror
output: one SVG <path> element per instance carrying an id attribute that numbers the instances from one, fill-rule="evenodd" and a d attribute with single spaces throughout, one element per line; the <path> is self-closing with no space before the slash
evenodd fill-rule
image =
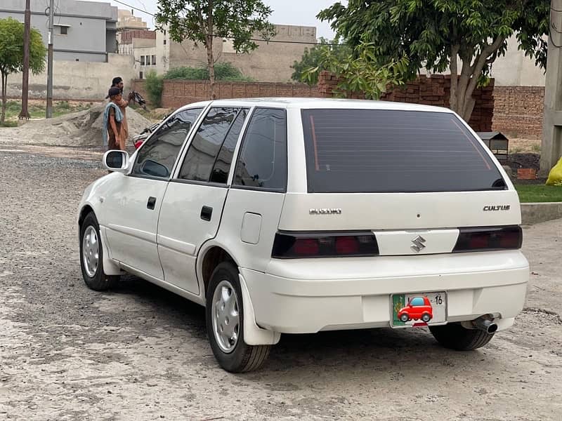
<path id="1" fill-rule="evenodd" d="M 138 150 L 131 175 L 169 178 L 181 146 L 202 108 L 185 109 L 171 116 Z"/>

